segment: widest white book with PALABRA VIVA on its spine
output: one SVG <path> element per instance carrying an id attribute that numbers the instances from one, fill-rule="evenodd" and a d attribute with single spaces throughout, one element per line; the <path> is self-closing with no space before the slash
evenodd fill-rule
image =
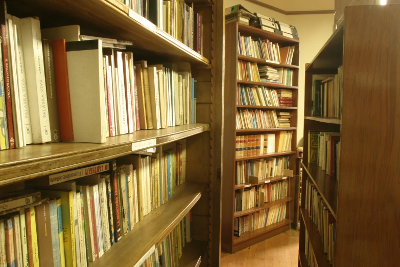
<path id="1" fill-rule="evenodd" d="M 21 18 L 20 21 L 23 59 L 26 63 L 28 101 L 30 103 L 32 141 L 33 143 L 51 142 L 47 95 L 44 93 L 46 92 L 46 82 L 40 22 L 31 17 Z"/>

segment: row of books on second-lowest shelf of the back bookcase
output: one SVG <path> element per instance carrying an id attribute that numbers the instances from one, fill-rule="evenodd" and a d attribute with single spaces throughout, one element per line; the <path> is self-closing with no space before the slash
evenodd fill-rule
<path id="1" fill-rule="evenodd" d="M 235 192 L 234 211 L 248 210 L 263 206 L 266 202 L 276 201 L 288 196 L 288 181 L 243 188 Z"/>

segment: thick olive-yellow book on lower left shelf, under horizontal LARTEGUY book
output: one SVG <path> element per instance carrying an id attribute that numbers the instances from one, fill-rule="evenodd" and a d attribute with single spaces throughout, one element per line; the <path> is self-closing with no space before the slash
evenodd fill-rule
<path id="1" fill-rule="evenodd" d="M 75 225 L 74 225 L 74 192 L 73 191 L 55 191 L 41 190 L 43 195 L 55 196 L 57 198 L 57 208 L 61 201 L 62 216 L 62 238 L 64 240 L 64 257 L 65 265 L 68 267 L 76 267 L 76 248 L 75 248 Z M 60 251 L 61 244 L 60 244 Z M 61 253 L 62 255 L 62 253 Z M 63 262 L 61 258 L 61 262 Z"/>

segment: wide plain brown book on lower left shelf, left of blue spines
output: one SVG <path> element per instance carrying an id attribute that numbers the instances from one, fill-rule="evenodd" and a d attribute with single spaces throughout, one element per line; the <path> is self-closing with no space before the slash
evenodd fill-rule
<path id="1" fill-rule="evenodd" d="M 35 213 L 40 264 L 54 266 L 49 202 L 37 205 Z"/>

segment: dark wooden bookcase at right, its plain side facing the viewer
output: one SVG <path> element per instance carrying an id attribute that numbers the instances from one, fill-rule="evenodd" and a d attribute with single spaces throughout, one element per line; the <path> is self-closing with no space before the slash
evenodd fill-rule
<path id="1" fill-rule="evenodd" d="M 318 190 L 336 222 L 334 266 L 397 266 L 398 161 L 395 137 L 400 82 L 400 5 L 351 6 L 343 23 L 305 70 L 304 160 L 298 266 L 307 267 L 305 238 L 319 267 L 332 266 L 321 233 L 305 209 L 305 183 Z M 315 75 L 343 65 L 341 118 L 312 117 Z M 308 163 L 309 130 L 340 132 L 338 180 Z M 306 232 L 307 230 L 307 232 Z"/>

